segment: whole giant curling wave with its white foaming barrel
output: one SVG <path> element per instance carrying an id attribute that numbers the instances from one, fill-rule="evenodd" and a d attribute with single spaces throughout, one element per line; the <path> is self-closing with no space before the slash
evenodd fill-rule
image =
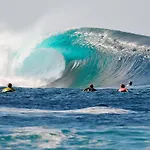
<path id="1" fill-rule="evenodd" d="M 0 68 L 1 78 L 7 74 L 15 78 L 16 85 L 28 87 L 74 88 L 89 83 L 115 87 L 131 80 L 137 86 L 150 85 L 147 36 L 98 28 L 72 29 L 47 36 L 25 52 L 12 53 L 12 64 L 3 61 L 6 67 Z"/>

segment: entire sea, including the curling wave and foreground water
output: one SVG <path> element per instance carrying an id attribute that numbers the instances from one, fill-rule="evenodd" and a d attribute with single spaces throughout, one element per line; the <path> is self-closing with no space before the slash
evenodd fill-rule
<path id="1" fill-rule="evenodd" d="M 0 90 L 16 89 L 0 93 L 0 150 L 150 150 L 150 37 L 79 28 L 0 50 Z"/>

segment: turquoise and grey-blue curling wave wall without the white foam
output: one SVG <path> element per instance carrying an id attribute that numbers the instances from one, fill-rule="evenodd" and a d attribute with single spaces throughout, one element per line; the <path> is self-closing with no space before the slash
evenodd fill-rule
<path id="1" fill-rule="evenodd" d="M 149 43 L 146 36 L 81 28 L 50 36 L 37 48 L 53 48 L 64 56 L 66 68 L 60 80 L 71 79 L 69 87 L 91 82 L 108 87 L 128 80 L 149 85 Z"/>

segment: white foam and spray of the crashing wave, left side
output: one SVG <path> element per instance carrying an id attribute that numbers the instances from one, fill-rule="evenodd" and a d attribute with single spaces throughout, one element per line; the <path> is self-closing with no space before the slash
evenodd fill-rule
<path id="1" fill-rule="evenodd" d="M 65 69 L 64 57 L 59 52 L 49 49 L 47 49 L 50 53 L 50 63 L 47 63 L 48 67 L 43 66 L 43 69 L 39 66 L 37 67 L 36 62 L 38 60 L 35 58 L 33 60 L 35 67 L 32 67 L 33 69 L 31 70 L 28 70 L 28 66 L 26 67 L 27 71 L 25 73 L 28 75 L 24 75 L 24 72 L 18 75 L 26 58 L 37 51 L 35 49 L 36 44 L 39 44 L 47 36 L 50 36 L 43 36 L 42 29 L 44 27 L 41 29 L 39 25 L 41 24 L 38 23 L 38 25 L 36 24 L 22 31 L 12 31 L 9 29 L 0 31 L 0 54 L 2 55 L 0 59 L 0 86 L 6 86 L 9 82 L 12 82 L 14 86 L 19 87 L 41 87 L 47 84 L 47 80 L 49 82 L 55 81 L 62 75 Z M 43 49 L 41 51 L 44 53 Z M 43 58 L 43 56 L 41 57 Z M 43 58 L 43 60 L 45 59 Z M 43 62 L 40 63 L 42 64 Z M 37 73 L 36 75 L 32 75 L 32 72 Z"/>

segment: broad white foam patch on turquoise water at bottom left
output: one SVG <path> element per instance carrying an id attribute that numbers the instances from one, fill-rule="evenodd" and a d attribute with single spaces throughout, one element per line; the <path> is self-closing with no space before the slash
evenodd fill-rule
<path id="1" fill-rule="evenodd" d="M 31 145 L 32 147 L 45 148 L 57 148 L 61 142 L 66 138 L 65 135 L 56 129 L 49 129 L 44 127 L 22 127 L 11 130 L 10 136 L 13 137 L 13 142 L 9 143 L 10 146 L 18 145 L 19 147 L 24 145 Z M 21 136 L 27 137 L 21 139 Z M 36 136 L 34 140 L 30 139 L 30 136 Z M 19 138 L 20 137 L 20 138 Z"/>

